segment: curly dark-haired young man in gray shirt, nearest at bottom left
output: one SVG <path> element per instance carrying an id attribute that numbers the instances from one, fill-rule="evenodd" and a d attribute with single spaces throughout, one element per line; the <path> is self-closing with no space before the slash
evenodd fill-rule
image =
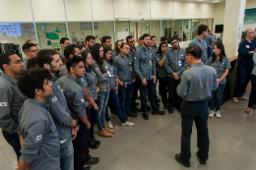
<path id="1" fill-rule="evenodd" d="M 60 170 L 60 142 L 46 98 L 52 95 L 50 73 L 45 69 L 24 71 L 18 87 L 28 97 L 19 113 L 22 156 L 17 170 Z"/>

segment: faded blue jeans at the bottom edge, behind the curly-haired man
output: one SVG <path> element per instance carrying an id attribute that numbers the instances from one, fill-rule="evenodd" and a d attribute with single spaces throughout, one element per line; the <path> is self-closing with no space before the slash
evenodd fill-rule
<path id="1" fill-rule="evenodd" d="M 72 138 L 60 144 L 60 168 L 61 170 L 74 169 L 74 148 Z"/>

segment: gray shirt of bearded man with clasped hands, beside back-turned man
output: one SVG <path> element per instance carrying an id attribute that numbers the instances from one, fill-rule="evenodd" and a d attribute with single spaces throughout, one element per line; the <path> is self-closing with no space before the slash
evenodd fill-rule
<path id="1" fill-rule="evenodd" d="M 185 53 L 183 48 L 179 48 L 178 52 L 175 52 L 172 48 L 167 50 L 164 67 L 168 77 L 172 78 L 172 74 L 177 73 L 178 77 L 181 78 L 182 73 L 187 69 Z"/>

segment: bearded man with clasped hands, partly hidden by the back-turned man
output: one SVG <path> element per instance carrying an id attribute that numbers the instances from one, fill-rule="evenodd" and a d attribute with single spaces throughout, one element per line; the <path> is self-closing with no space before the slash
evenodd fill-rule
<path id="1" fill-rule="evenodd" d="M 170 45 L 172 48 L 166 52 L 164 67 L 167 72 L 168 112 L 173 113 L 175 101 L 177 109 L 180 111 L 182 98 L 177 95 L 176 87 L 180 84 L 180 78 L 187 69 L 187 61 L 185 59 L 185 50 L 179 47 L 177 36 L 170 38 Z"/>

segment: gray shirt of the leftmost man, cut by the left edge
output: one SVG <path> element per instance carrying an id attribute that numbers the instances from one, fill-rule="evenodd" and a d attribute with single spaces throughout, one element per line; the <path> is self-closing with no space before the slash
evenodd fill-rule
<path id="1" fill-rule="evenodd" d="M 25 95 L 17 86 L 17 80 L 3 73 L 0 77 L 0 128 L 15 135 L 19 131 L 19 111 Z"/>

